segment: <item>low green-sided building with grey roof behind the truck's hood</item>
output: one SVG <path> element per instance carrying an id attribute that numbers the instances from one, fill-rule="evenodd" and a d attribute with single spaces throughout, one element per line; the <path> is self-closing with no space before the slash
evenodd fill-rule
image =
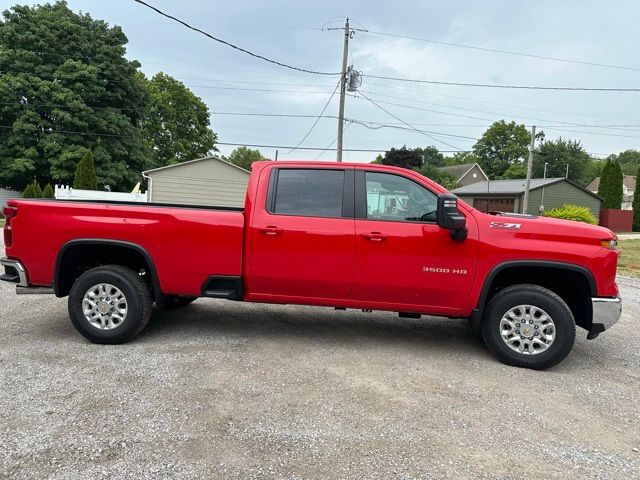
<path id="1" fill-rule="evenodd" d="M 477 182 L 453 190 L 460 200 L 481 211 L 528 213 L 537 215 L 541 205 L 544 210 L 572 203 L 587 207 L 599 218 L 602 199 L 595 193 L 571 180 L 561 178 L 532 178 L 529 189 L 529 205 L 522 211 L 524 179 L 492 180 Z"/>

